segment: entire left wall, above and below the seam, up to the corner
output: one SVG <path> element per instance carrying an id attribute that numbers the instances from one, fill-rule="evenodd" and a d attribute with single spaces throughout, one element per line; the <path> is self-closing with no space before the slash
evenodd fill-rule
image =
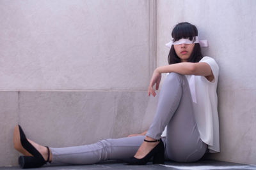
<path id="1" fill-rule="evenodd" d="M 0 166 L 16 124 L 54 147 L 145 131 L 156 1 L 0 0 Z"/>

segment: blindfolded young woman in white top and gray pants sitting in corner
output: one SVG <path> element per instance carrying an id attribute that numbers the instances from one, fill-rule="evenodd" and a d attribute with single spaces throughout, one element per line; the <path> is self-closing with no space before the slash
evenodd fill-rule
<path id="1" fill-rule="evenodd" d="M 94 164 L 123 159 L 130 164 L 164 164 L 164 159 L 194 162 L 205 152 L 220 152 L 216 87 L 218 65 L 202 57 L 195 25 L 182 22 L 172 31 L 168 66 L 157 67 L 150 80 L 148 96 L 156 96 L 161 73 L 170 73 L 159 94 L 156 115 L 147 132 L 127 138 L 104 139 L 92 145 L 48 148 L 26 138 L 21 127 L 13 143 L 23 153 L 21 167 L 39 167 L 46 162 Z M 166 135 L 163 135 L 166 127 Z M 161 137 L 162 134 L 162 137 Z M 164 136 L 164 137 L 163 137 Z"/>

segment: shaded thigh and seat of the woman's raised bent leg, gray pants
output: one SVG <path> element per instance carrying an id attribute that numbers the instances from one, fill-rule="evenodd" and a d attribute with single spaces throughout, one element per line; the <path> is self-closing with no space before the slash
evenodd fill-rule
<path id="1" fill-rule="evenodd" d="M 194 162 L 202 158 L 207 145 L 200 139 L 188 81 L 185 76 L 179 76 L 182 80 L 182 97 L 167 125 L 166 155 L 177 162 Z"/>

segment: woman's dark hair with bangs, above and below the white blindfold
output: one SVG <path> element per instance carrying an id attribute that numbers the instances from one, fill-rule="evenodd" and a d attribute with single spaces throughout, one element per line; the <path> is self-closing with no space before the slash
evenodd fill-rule
<path id="1" fill-rule="evenodd" d="M 196 26 L 188 22 L 180 22 L 179 24 L 175 25 L 172 31 L 173 41 L 178 41 L 179 39 L 182 39 L 182 38 L 188 38 L 191 41 L 195 41 L 195 36 L 198 36 L 198 31 L 196 29 Z M 199 43 L 195 43 L 195 47 L 188 59 L 188 62 L 199 62 L 202 58 L 203 58 L 203 55 L 201 53 L 201 47 Z M 168 63 L 175 64 L 179 62 L 181 62 L 181 60 L 178 57 L 172 45 L 168 55 Z"/>

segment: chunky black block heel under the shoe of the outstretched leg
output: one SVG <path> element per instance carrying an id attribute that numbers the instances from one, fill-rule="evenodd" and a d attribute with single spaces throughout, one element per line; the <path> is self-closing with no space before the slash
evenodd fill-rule
<path id="1" fill-rule="evenodd" d="M 19 165 L 22 169 L 24 169 L 24 168 L 43 166 L 44 162 L 42 162 L 40 159 L 36 157 L 20 156 Z"/>

